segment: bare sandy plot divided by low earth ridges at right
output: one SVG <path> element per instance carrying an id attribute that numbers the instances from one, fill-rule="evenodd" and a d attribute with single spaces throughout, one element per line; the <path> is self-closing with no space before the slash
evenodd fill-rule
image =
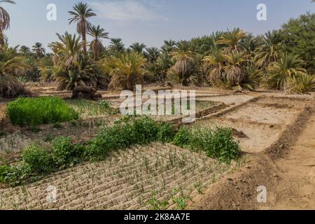
<path id="1" fill-rule="evenodd" d="M 200 126 L 230 127 L 242 151 L 258 153 L 276 141 L 283 130 L 302 112 L 305 102 L 297 99 L 262 98 L 228 113 L 198 121 Z"/>

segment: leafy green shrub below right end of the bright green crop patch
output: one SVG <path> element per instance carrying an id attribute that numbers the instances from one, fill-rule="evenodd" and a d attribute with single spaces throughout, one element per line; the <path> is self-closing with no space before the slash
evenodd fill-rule
<path id="1" fill-rule="evenodd" d="M 53 140 L 52 146 L 52 160 L 59 169 L 73 167 L 80 162 L 85 149 L 83 146 L 72 144 L 71 139 L 66 137 Z"/>

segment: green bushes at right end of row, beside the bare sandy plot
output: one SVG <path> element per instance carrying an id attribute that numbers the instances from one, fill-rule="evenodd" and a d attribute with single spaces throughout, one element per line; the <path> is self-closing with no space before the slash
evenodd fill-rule
<path id="1" fill-rule="evenodd" d="M 181 127 L 173 144 L 193 151 L 205 151 L 207 156 L 226 163 L 239 158 L 241 154 L 240 146 L 234 141 L 233 132 L 228 128 L 195 128 L 192 131 L 188 127 Z"/>

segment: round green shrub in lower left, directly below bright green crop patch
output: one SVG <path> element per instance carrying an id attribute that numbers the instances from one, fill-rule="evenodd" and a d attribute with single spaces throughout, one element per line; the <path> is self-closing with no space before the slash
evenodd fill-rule
<path id="1" fill-rule="evenodd" d="M 53 168 L 53 161 L 48 151 L 36 144 L 28 146 L 23 151 L 22 159 L 29 165 L 31 172 L 36 174 L 50 172 Z"/>

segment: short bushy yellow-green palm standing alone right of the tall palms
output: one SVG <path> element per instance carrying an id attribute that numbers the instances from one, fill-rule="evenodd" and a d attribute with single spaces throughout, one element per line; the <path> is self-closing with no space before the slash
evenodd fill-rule
<path id="1" fill-rule="evenodd" d="M 123 87 L 124 90 L 134 90 L 136 84 L 142 83 L 146 59 L 137 52 L 123 52 L 104 62 L 111 76 L 111 89 Z"/>

